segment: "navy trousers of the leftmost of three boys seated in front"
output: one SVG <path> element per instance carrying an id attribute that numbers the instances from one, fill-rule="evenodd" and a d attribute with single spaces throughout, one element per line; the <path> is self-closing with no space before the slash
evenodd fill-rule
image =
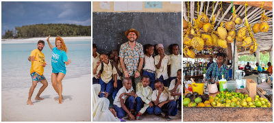
<path id="1" fill-rule="evenodd" d="M 125 100 L 125 107 L 127 107 L 127 109 L 133 109 L 134 103 L 135 103 L 134 96 L 129 96 Z M 123 118 L 125 116 L 125 111 L 123 110 L 122 107 L 117 107 L 116 105 L 114 105 L 114 109 L 116 111 L 117 118 Z"/>

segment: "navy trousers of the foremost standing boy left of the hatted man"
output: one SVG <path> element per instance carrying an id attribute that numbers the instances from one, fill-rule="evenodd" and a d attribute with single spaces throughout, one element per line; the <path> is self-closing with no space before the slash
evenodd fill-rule
<path id="1" fill-rule="evenodd" d="M 101 92 L 108 92 L 108 95 L 112 95 L 112 92 L 113 92 L 113 80 L 112 79 L 110 79 L 110 81 L 108 83 L 105 83 L 100 78 L 99 83 L 101 85 Z M 104 94 L 101 93 L 100 98 L 103 96 L 104 96 Z"/>

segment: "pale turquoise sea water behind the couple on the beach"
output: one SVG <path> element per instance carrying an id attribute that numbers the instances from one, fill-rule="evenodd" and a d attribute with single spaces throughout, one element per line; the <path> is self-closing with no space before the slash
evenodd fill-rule
<path id="1" fill-rule="evenodd" d="M 66 48 L 69 49 L 66 55 L 71 59 L 71 64 L 66 66 L 66 76 L 63 80 L 79 77 L 79 81 L 81 81 L 81 75 L 91 74 L 91 40 L 73 40 L 65 41 L 65 43 Z M 54 46 L 55 42 L 51 42 L 51 44 Z M 27 58 L 34 49 L 37 49 L 37 43 L 2 44 L 2 90 L 32 86 L 32 77 L 29 74 L 32 62 Z M 44 68 L 44 76 L 51 85 L 52 51 L 47 42 L 45 42 L 42 53 L 44 53 L 47 62 L 47 66 Z"/>

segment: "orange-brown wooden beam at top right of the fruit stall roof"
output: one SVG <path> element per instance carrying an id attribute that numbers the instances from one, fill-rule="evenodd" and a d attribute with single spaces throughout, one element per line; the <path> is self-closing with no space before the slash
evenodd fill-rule
<path id="1" fill-rule="evenodd" d="M 223 1 L 225 3 L 231 3 L 231 1 Z M 245 5 L 245 1 L 233 1 L 235 5 Z M 247 1 L 247 4 L 250 6 L 254 6 L 260 8 L 262 6 L 262 1 Z M 273 9 L 273 1 L 264 1 L 264 10 L 272 10 Z"/>

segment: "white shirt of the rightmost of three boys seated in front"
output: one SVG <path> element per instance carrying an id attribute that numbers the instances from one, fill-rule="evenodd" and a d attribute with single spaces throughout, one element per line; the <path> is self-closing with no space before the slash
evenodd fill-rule
<path id="1" fill-rule="evenodd" d="M 155 102 L 157 100 L 158 90 L 153 90 L 152 92 L 152 101 Z M 164 87 L 164 91 L 161 93 L 159 97 L 159 103 L 164 102 L 166 100 L 174 100 L 173 96 L 169 92 L 169 87 Z"/>

